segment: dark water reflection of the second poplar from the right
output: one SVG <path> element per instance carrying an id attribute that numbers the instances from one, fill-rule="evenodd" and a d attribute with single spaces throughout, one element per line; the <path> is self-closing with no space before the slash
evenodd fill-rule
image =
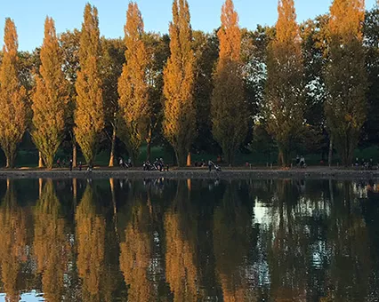
<path id="1" fill-rule="evenodd" d="M 277 181 L 271 212 L 268 259 L 271 297 L 275 301 L 306 298 L 306 273 L 310 263 L 308 236 L 302 224 L 298 187 L 291 179 Z"/>

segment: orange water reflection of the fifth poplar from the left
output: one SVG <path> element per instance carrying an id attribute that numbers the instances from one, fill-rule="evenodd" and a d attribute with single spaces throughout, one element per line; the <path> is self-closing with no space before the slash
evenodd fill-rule
<path id="1" fill-rule="evenodd" d="M 198 301 L 195 250 L 197 219 L 185 184 L 178 181 L 175 200 L 165 213 L 165 272 L 174 301 Z"/>

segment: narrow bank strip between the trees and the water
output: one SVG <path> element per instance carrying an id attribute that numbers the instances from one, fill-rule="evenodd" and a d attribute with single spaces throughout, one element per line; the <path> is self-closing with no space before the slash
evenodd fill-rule
<path id="1" fill-rule="evenodd" d="M 95 168 L 92 172 L 68 169 L 0 169 L 0 179 L 379 179 L 379 170 L 345 170 L 327 167 L 306 169 L 224 169 L 222 172 L 199 168 L 170 171 L 142 171 L 119 168 Z"/>

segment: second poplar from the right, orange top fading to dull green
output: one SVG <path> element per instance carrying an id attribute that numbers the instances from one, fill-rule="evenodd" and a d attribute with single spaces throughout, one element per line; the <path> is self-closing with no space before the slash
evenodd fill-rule
<path id="1" fill-rule="evenodd" d="M 266 96 L 263 110 L 268 131 L 278 143 L 278 163 L 287 166 L 294 142 L 302 134 L 302 48 L 294 0 L 279 0 L 276 37 L 269 44 Z"/>

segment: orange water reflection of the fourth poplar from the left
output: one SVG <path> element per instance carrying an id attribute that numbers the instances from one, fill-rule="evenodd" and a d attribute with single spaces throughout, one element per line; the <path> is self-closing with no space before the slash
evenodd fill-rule
<path id="1" fill-rule="evenodd" d="M 149 263 L 152 257 L 151 217 L 149 207 L 137 197 L 133 201 L 131 219 L 125 228 L 125 242 L 120 244 L 120 266 L 125 283 L 130 285 L 130 301 L 154 300 L 152 282 L 149 280 Z"/>

